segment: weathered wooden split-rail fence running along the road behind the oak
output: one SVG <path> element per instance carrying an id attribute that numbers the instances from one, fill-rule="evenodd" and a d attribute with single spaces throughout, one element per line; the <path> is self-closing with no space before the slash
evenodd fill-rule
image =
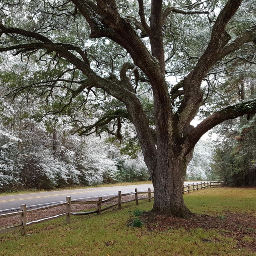
<path id="1" fill-rule="evenodd" d="M 220 186 L 224 184 L 224 182 L 204 182 L 204 183 L 196 183 L 196 184 L 188 184 L 187 186 L 183 187 L 183 191 L 182 193 L 184 194 L 184 192 L 190 192 L 193 190 L 198 190 L 198 189 L 205 189 L 205 188 L 211 188 L 212 186 Z M 184 188 L 187 188 L 186 190 L 184 190 Z M 98 200 L 96 201 L 76 201 L 76 200 L 71 200 L 71 196 L 67 196 L 66 197 L 66 202 L 61 202 L 58 204 L 51 204 L 49 206 L 43 206 L 43 207 L 38 207 L 38 208 L 34 208 L 31 210 L 27 210 L 26 209 L 26 204 L 21 204 L 20 205 L 20 211 L 18 212 L 10 212 L 10 213 L 6 213 L 6 214 L 0 214 L 0 218 L 7 218 L 7 217 L 12 217 L 12 216 L 20 216 L 20 224 L 16 225 L 16 226 L 12 226 L 12 227 L 8 227 L 8 228 L 2 228 L 0 229 L 0 234 L 12 231 L 12 230 L 21 230 L 21 234 L 25 235 L 26 234 L 26 228 L 28 226 L 32 226 L 34 224 L 38 224 L 41 222 L 46 222 L 46 221 L 50 221 L 50 220 L 54 220 L 56 218 L 60 218 L 60 217 L 64 217 L 66 216 L 66 222 L 70 223 L 70 216 L 74 215 L 74 216 L 82 216 L 82 215 L 88 215 L 88 214 L 100 214 L 101 212 L 108 210 L 110 208 L 113 207 L 118 207 L 118 209 L 121 209 L 122 204 L 126 204 L 126 203 L 130 203 L 130 202 L 136 202 L 136 205 L 138 205 L 138 201 L 139 200 L 148 200 L 149 202 L 151 201 L 152 198 L 154 198 L 154 196 L 152 196 L 152 194 L 154 193 L 154 191 L 152 191 L 150 188 L 148 188 L 148 191 L 140 191 L 138 192 L 138 189 L 135 188 L 135 192 L 129 192 L 129 193 L 125 193 L 122 194 L 121 191 L 118 191 L 118 196 L 113 196 L 111 198 L 107 198 L 102 200 L 102 197 L 99 196 Z M 147 197 L 143 197 L 143 198 L 139 198 L 138 195 L 139 194 L 147 194 Z M 130 195 L 135 195 L 135 199 L 132 200 L 128 200 L 128 201 L 122 201 L 122 196 L 130 196 Z M 113 200 L 117 200 L 117 203 L 108 205 L 106 207 L 102 207 L 104 203 L 106 202 L 110 202 Z M 94 211 L 88 211 L 88 212 L 71 212 L 71 204 L 96 204 L 96 210 Z M 50 208 L 54 208 L 54 207 L 58 207 L 58 206 L 65 206 L 66 205 L 66 212 L 62 213 L 62 214 L 58 214 L 55 216 L 51 216 L 48 218 L 43 218 L 40 220 L 35 220 L 35 221 L 31 221 L 26 223 L 26 215 L 32 212 L 38 212 L 41 210 L 46 210 L 46 209 L 50 209 Z"/>

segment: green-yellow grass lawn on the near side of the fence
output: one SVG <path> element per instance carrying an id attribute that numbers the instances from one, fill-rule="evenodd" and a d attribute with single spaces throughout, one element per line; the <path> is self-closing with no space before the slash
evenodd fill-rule
<path id="1" fill-rule="evenodd" d="M 223 223 L 232 221 L 228 213 L 256 218 L 256 189 L 210 188 L 184 198 L 193 212 L 223 216 L 218 219 Z M 134 218 L 135 208 L 132 202 L 122 205 L 121 210 L 111 209 L 100 215 L 72 216 L 70 224 L 60 218 L 28 227 L 26 236 L 19 231 L 1 234 L 0 256 L 256 256 L 253 246 L 248 246 L 256 244 L 256 226 L 249 231 L 238 227 L 241 234 L 247 234 L 242 238 L 218 227 L 162 229 L 164 224 L 156 222 L 151 223 L 155 228 L 132 228 L 127 223 Z M 140 210 L 151 208 L 152 202 L 139 202 Z"/>

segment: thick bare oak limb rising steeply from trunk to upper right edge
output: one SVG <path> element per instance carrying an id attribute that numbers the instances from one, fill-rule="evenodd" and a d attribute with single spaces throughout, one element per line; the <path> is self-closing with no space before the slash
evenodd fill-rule
<path id="1" fill-rule="evenodd" d="M 220 54 L 224 46 L 231 39 L 225 29 L 241 3 L 242 0 L 228 0 L 214 23 L 210 42 L 206 50 L 198 60 L 194 70 L 184 79 L 185 94 L 178 109 L 178 113 L 180 114 L 180 133 L 192 121 L 201 105 L 203 100 L 200 90 L 201 82 L 208 69 L 216 62 L 216 56 Z"/>

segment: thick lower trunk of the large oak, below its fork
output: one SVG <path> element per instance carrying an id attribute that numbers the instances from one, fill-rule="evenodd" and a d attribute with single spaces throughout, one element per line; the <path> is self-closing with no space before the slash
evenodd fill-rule
<path id="1" fill-rule="evenodd" d="M 162 151 L 163 152 L 163 151 Z M 154 206 L 152 212 L 191 218 L 194 214 L 186 207 L 183 195 L 184 168 L 186 160 L 166 152 L 158 159 L 152 178 Z"/>

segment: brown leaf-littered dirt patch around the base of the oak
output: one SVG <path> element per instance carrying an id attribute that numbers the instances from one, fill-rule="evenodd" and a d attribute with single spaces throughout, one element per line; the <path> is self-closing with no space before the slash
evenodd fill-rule
<path id="1" fill-rule="evenodd" d="M 141 216 L 148 230 L 166 232 L 170 229 L 185 230 L 203 228 L 205 230 L 220 230 L 221 235 L 234 238 L 236 247 L 248 248 L 256 252 L 256 216 L 254 214 L 241 212 L 223 212 L 215 215 L 196 215 L 190 220 L 182 218 L 156 215 L 145 212 Z M 203 239 L 203 242 L 218 242 L 211 239 Z"/>

